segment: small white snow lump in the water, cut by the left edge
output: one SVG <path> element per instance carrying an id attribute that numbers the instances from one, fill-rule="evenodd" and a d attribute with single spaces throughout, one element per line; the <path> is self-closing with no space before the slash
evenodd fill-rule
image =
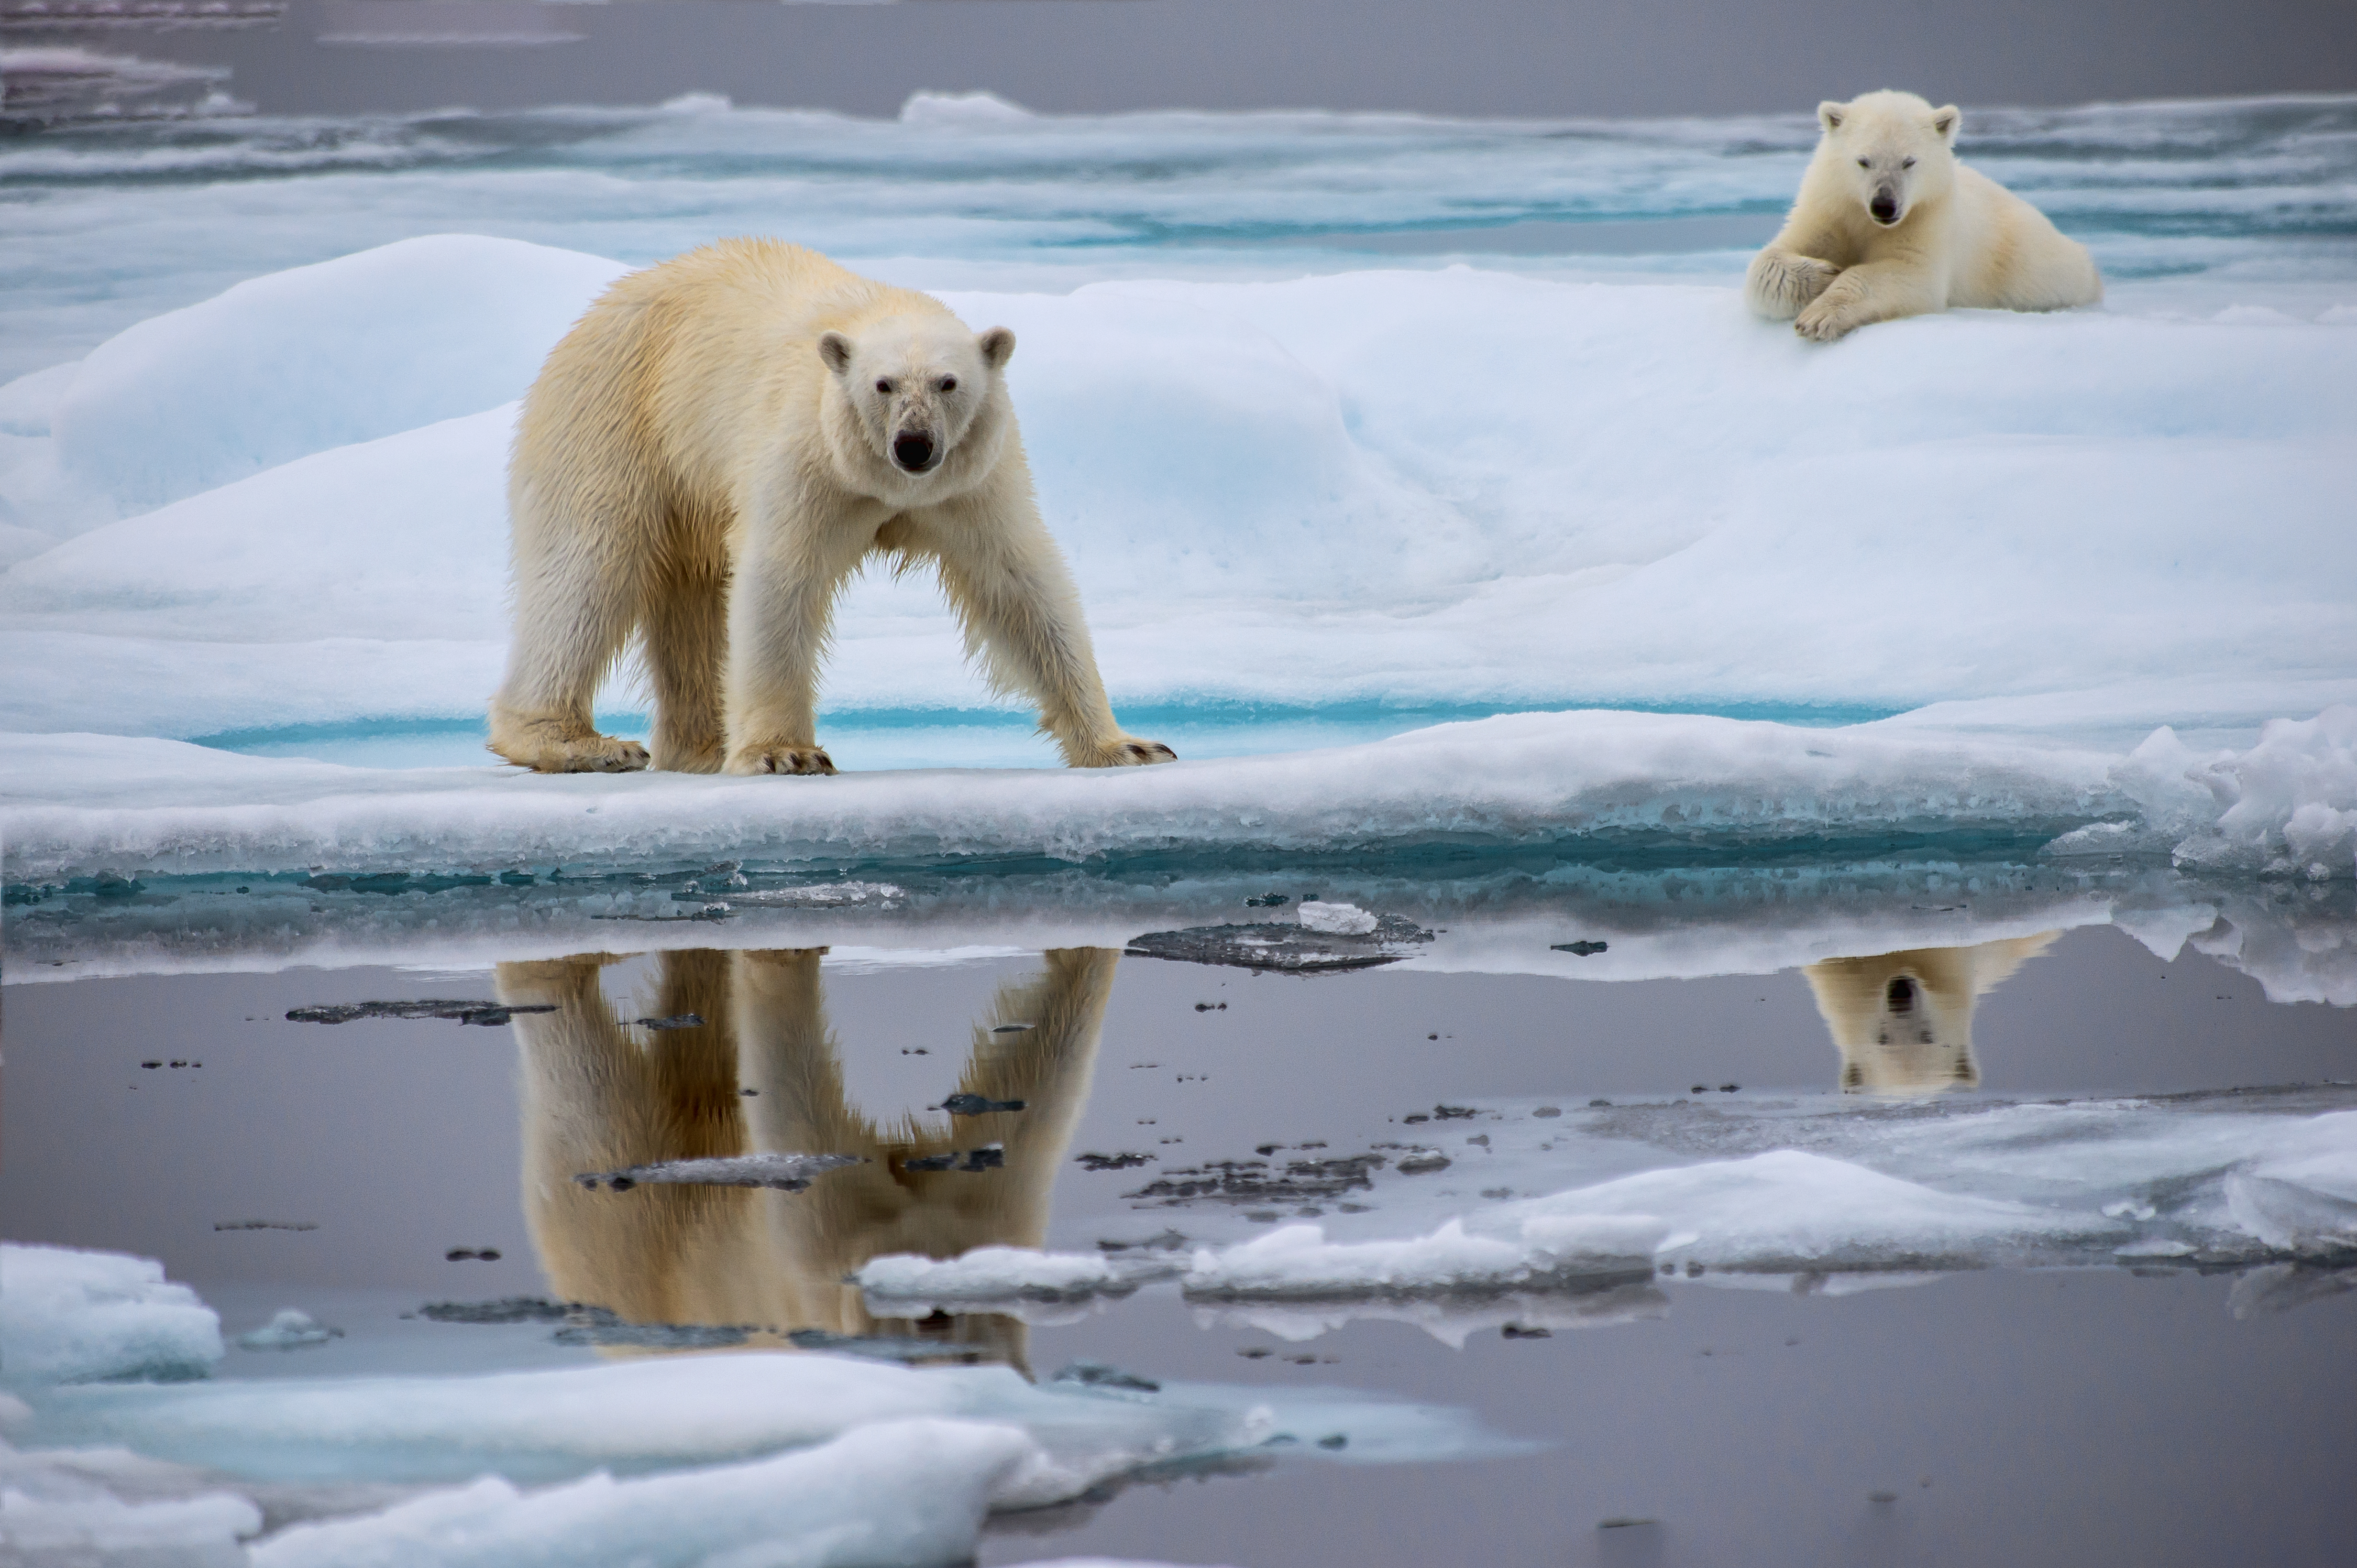
<path id="1" fill-rule="evenodd" d="M 222 1321 L 153 1257 L 0 1243 L 0 1377 L 205 1377 Z"/>

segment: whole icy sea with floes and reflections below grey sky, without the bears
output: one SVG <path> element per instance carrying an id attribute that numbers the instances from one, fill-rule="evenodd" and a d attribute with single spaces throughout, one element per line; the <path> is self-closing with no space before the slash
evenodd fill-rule
<path id="1" fill-rule="evenodd" d="M 1827 348 L 1813 134 L 0 139 L 0 1556 L 2336 1561 L 2357 99 L 1968 106 L 2105 304 Z M 1178 765 L 886 574 L 841 777 L 481 751 L 514 400 L 735 233 L 1016 330 Z"/>

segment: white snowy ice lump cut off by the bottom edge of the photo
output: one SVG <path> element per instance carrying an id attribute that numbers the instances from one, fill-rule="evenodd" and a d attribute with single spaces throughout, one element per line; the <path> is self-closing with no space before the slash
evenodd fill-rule
<path id="1" fill-rule="evenodd" d="M 1014 1427 L 879 1422 L 804 1453 L 540 1493 L 490 1476 L 365 1519 L 295 1526 L 255 1568 L 870 1568 L 973 1554 L 983 1516 L 1039 1453 Z"/>

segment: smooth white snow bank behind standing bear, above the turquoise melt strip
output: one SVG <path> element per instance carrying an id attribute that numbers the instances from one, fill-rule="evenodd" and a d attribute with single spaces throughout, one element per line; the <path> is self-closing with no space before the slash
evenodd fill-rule
<path id="1" fill-rule="evenodd" d="M 0 725 L 478 713 L 500 410 L 618 268 L 438 235 L 111 339 L 19 438 L 16 513 L 181 506 L 0 577 L 19 633 L 104 638 L 14 650 Z M 1018 332 L 1117 702 L 1912 709 L 2199 676 L 2258 723 L 2286 687 L 2357 695 L 2329 327 L 1956 313 L 1817 351 L 1730 290 L 1473 268 L 945 299 Z M 1409 372 L 1402 341 L 1450 353 Z M 408 695 L 306 678 L 342 638 Z M 851 596 L 827 699 L 992 706 L 917 579 Z"/>

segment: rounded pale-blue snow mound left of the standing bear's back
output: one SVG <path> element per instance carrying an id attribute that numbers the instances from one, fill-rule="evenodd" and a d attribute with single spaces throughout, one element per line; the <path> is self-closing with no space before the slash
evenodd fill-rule
<path id="1" fill-rule="evenodd" d="M 66 473 L 144 511 L 523 396 L 627 268 L 427 235 L 240 283 L 99 344 L 52 414 Z"/>

